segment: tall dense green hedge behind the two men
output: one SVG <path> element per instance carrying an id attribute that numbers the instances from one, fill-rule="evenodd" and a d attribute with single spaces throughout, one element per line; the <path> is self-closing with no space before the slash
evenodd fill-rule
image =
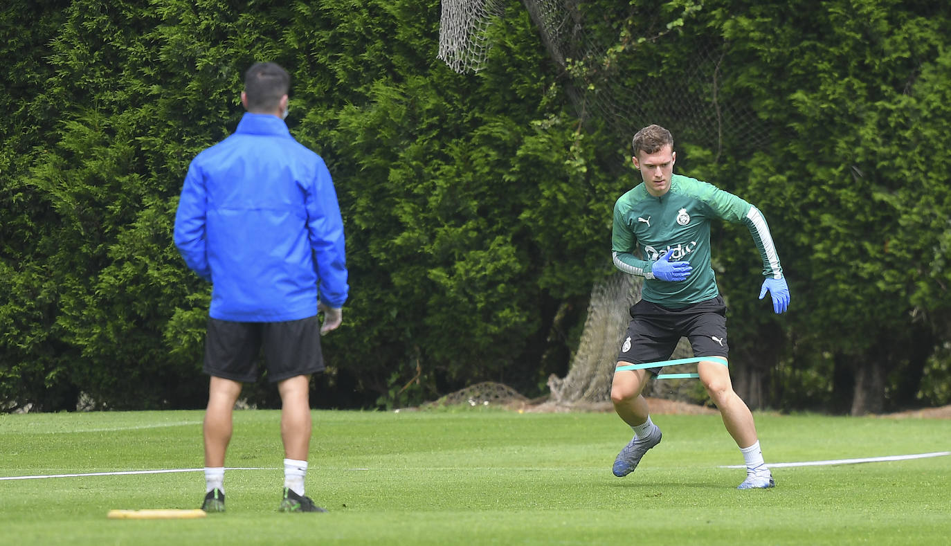
<path id="1" fill-rule="evenodd" d="M 772 227 L 793 294 L 782 318 L 755 299 L 748 233 L 713 242 L 731 367 L 756 372 L 762 405 L 951 401 L 946 10 L 598 0 L 579 16 L 616 47 L 566 71 L 510 4 L 486 68 L 459 75 L 436 59 L 436 0 L 7 2 L 0 407 L 73 409 L 81 393 L 100 408 L 204 405 L 209 289 L 171 222 L 188 162 L 234 129 L 243 70 L 265 59 L 292 74 L 289 126 L 330 166 L 347 231 L 353 291 L 315 405 L 415 403 L 479 380 L 546 392 L 611 272 L 611 205 L 637 183 L 630 129 L 655 121 L 675 130 L 678 170 Z M 717 101 L 755 141 L 711 140 L 667 94 L 712 104 L 703 82 L 681 85 L 711 47 Z M 581 108 L 646 83 L 665 91 L 622 93 L 631 119 Z M 247 394 L 274 404 L 264 387 Z"/>

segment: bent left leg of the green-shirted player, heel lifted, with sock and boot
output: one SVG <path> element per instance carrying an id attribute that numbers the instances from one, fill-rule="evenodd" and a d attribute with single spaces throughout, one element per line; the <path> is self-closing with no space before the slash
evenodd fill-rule
<path id="1" fill-rule="evenodd" d="M 618 362 L 618 365 L 627 363 Z M 647 375 L 647 370 L 624 370 L 615 372 L 611 382 L 614 411 L 634 431 L 634 438 L 614 459 L 611 471 L 618 478 L 631 474 L 644 454 L 660 443 L 660 429 L 650 421 L 648 401 L 641 395 L 648 380 Z"/>

